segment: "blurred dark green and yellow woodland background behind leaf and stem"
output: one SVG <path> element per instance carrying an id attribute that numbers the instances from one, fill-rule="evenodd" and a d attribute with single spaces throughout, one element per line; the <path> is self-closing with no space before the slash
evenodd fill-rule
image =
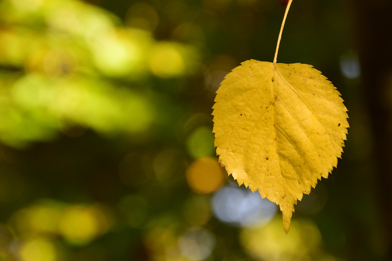
<path id="1" fill-rule="evenodd" d="M 350 129 L 277 206 L 214 149 L 223 77 L 272 62 L 279 0 L 0 0 L 0 260 L 392 260 L 390 1 L 294 0 L 278 62 L 314 65 Z"/>

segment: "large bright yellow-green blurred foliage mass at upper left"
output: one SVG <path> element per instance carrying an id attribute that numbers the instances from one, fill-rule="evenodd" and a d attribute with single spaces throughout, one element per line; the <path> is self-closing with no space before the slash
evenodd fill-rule
<path id="1" fill-rule="evenodd" d="M 18 3 L 0 6 L 0 64 L 8 70 L 0 77 L 0 140 L 7 145 L 50 141 L 73 126 L 145 132 L 165 110 L 148 79 L 197 70 L 195 47 L 119 27 L 102 9 L 70 0 Z"/>

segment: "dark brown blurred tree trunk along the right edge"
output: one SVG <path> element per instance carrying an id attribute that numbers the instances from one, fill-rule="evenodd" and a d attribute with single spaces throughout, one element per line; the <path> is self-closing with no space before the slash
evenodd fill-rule
<path id="1" fill-rule="evenodd" d="M 373 132 L 377 192 L 386 260 L 392 260 L 392 2 L 351 0 L 362 80 Z M 359 228 L 360 229 L 360 228 Z"/>

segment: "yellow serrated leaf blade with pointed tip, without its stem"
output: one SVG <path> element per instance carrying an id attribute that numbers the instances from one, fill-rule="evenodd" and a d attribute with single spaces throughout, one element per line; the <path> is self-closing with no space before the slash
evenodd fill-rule
<path id="1" fill-rule="evenodd" d="M 289 232 L 297 199 L 343 152 L 348 116 L 340 93 L 311 65 L 248 60 L 227 74 L 215 102 L 221 165 L 278 204 Z"/>

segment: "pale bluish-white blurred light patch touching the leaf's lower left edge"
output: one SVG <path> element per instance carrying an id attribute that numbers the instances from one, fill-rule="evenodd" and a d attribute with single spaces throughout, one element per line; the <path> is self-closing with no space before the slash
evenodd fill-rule
<path id="1" fill-rule="evenodd" d="M 211 199 L 214 215 L 225 223 L 238 227 L 263 225 L 276 213 L 276 204 L 262 199 L 259 192 L 243 187 L 226 186 Z"/>

